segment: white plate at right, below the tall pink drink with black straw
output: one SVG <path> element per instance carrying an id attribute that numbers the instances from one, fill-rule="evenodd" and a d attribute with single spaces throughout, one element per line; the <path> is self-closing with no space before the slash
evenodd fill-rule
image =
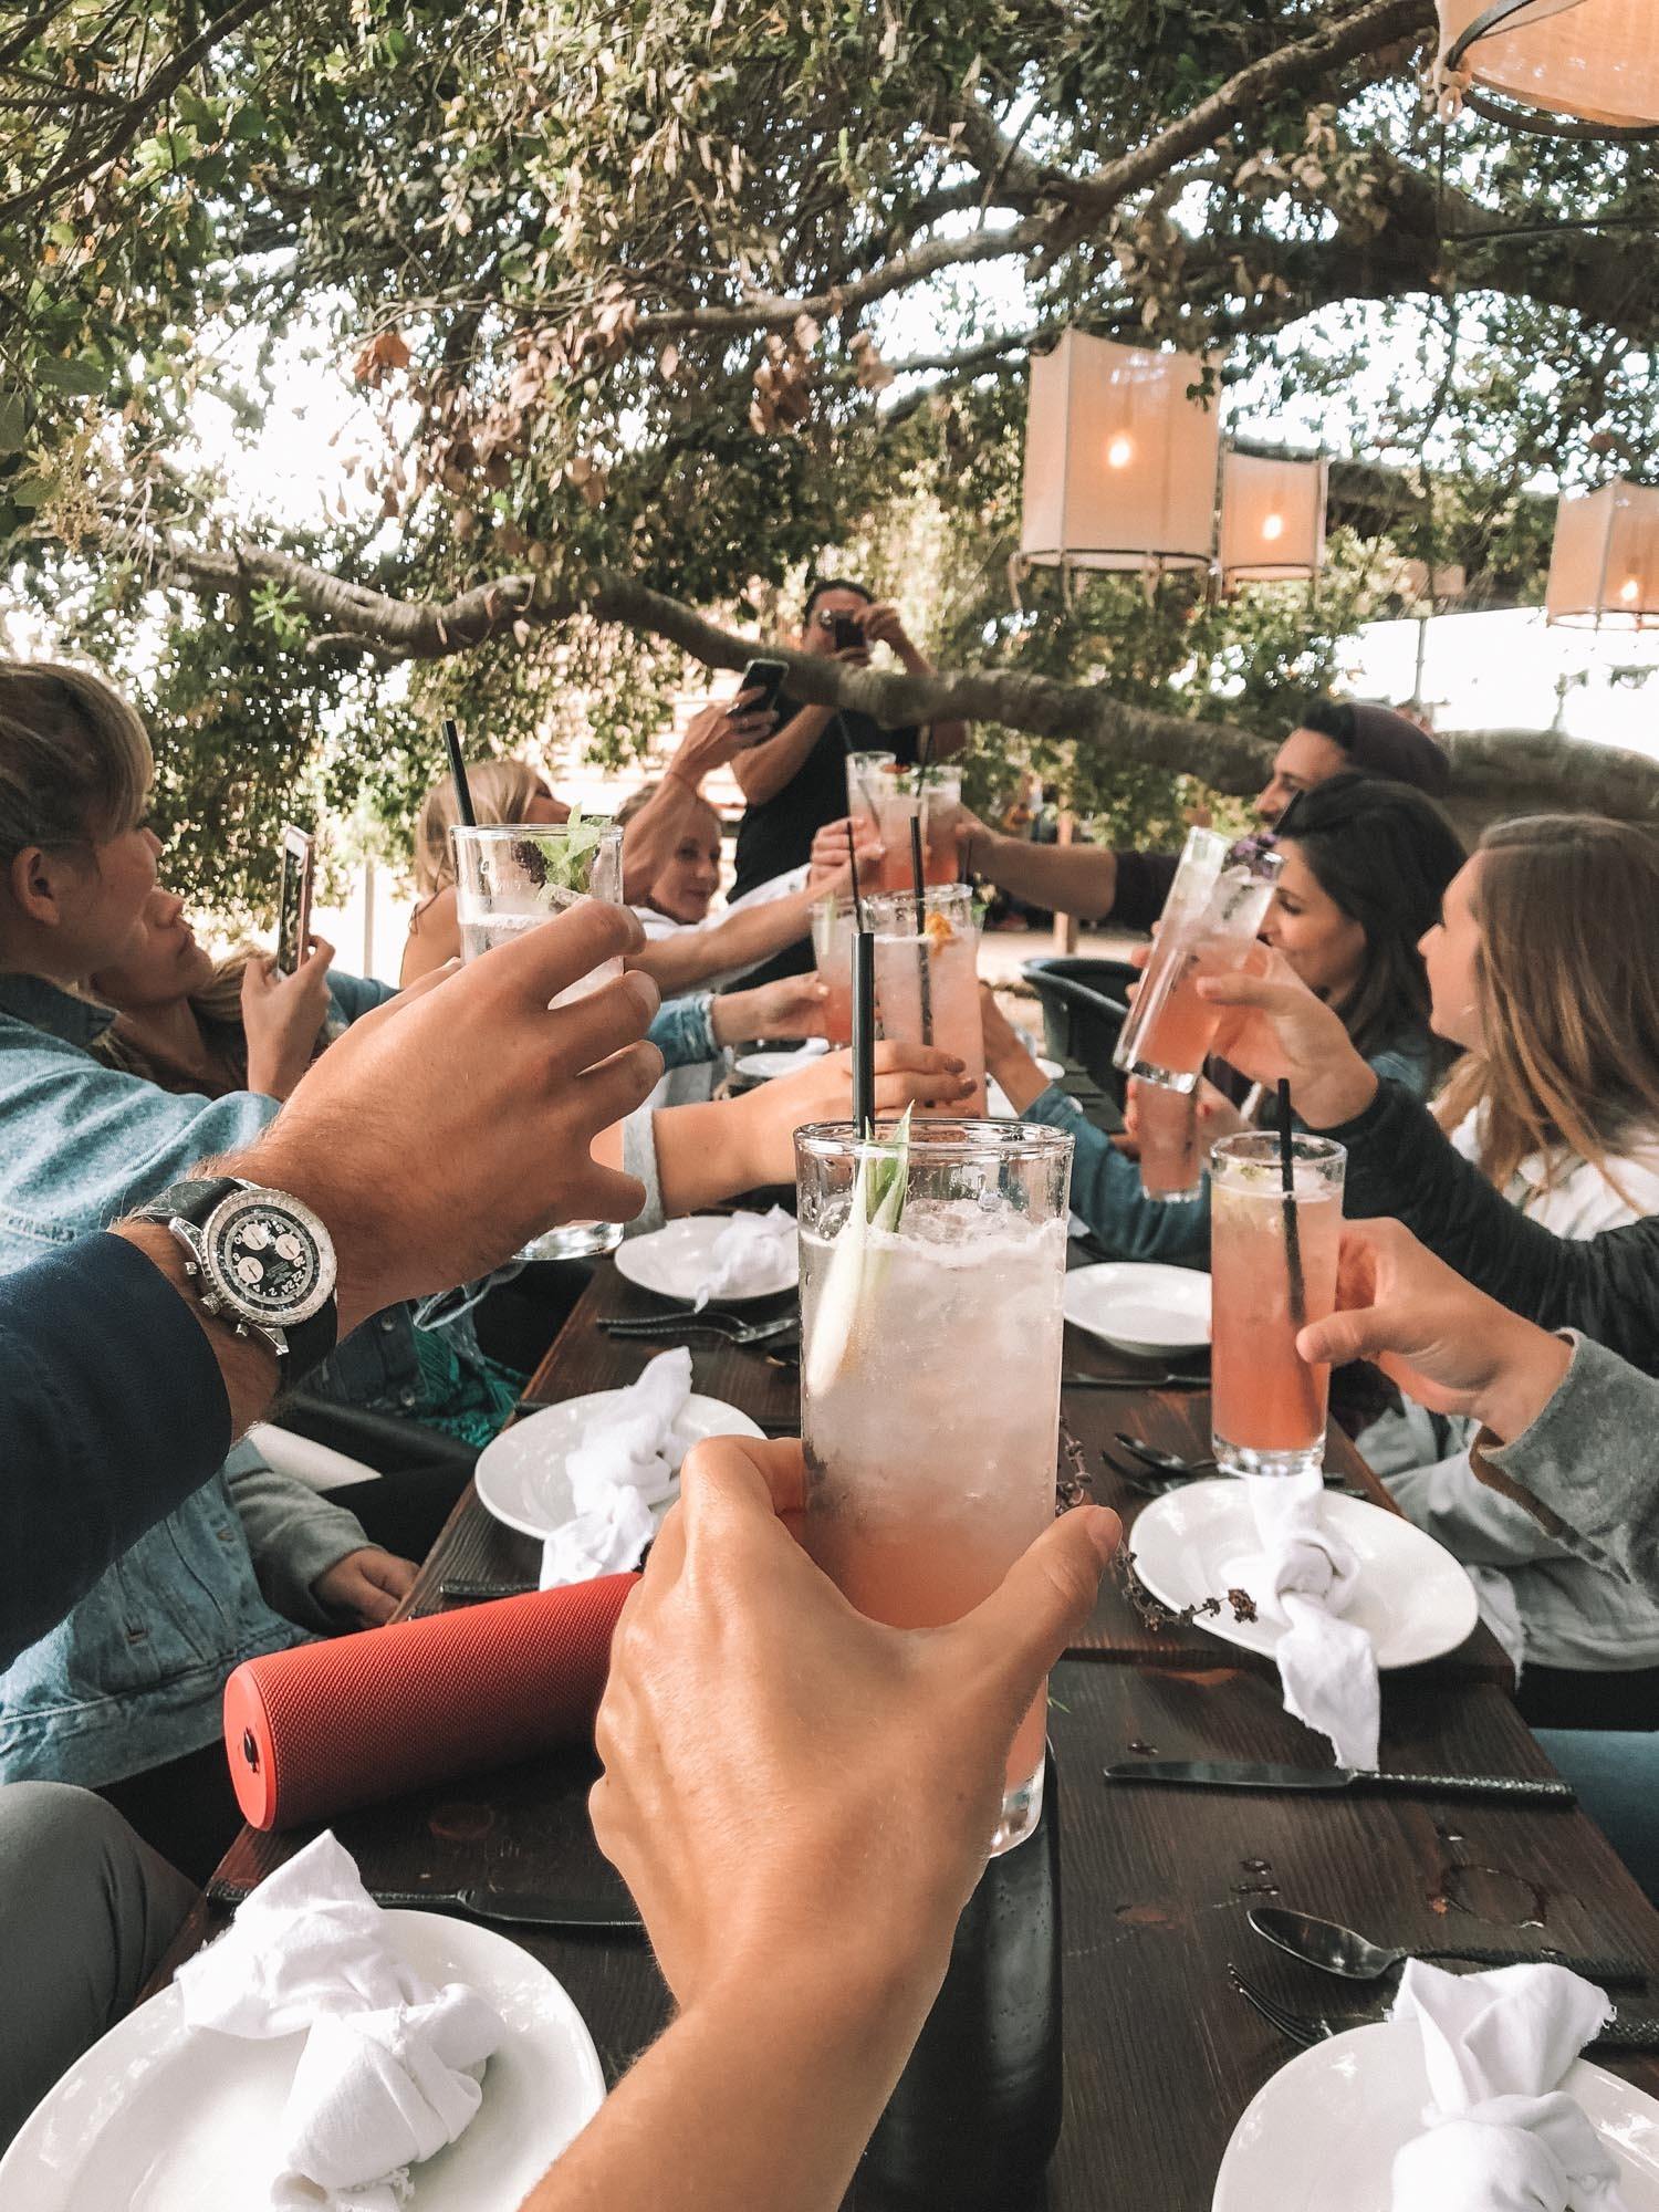
<path id="1" fill-rule="evenodd" d="M 1475 1626 L 1475 1586 L 1444 1546 L 1400 1513 L 1334 1491 L 1325 1491 L 1325 1522 L 1358 1553 L 1358 1588 L 1343 1619 L 1369 1635 L 1380 1668 L 1420 1666 L 1458 1650 Z M 1237 1579 L 1230 1568 L 1256 1548 L 1243 1480 L 1221 1475 L 1166 1491 L 1141 1509 L 1128 1542 L 1135 1573 L 1161 1604 L 1181 1613 L 1219 1597 L 1221 1610 L 1206 1613 L 1199 1628 L 1248 1652 L 1272 1652 L 1279 1644 L 1281 1621 L 1234 1621 L 1228 1604 Z"/>

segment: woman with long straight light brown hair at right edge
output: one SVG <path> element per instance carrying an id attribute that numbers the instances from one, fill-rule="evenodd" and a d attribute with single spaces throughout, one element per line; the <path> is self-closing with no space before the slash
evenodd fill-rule
<path id="1" fill-rule="evenodd" d="M 1467 1046 L 1436 1119 L 1524 1217 L 1584 1239 L 1659 1206 L 1659 852 L 1542 814 L 1489 830 L 1425 938 L 1436 1033 Z M 1332 1037 L 1332 1053 L 1352 1048 Z M 1484 1489 L 1455 1422 L 1407 1405 L 1358 1438 L 1469 1566 L 1540 1725 L 1659 1725 L 1659 1606 Z"/>

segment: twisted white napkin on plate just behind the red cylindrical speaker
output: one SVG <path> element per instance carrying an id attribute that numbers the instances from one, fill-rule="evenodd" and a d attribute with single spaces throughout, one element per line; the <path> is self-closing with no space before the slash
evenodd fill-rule
<path id="1" fill-rule="evenodd" d="M 650 1542 L 650 1509 L 675 1493 L 690 1451 L 675 1422 L 690 1398 L 690 1352 L 659 1352 L 637 1383 L 619 1389 L 568 1453 L 571 1520 L 542 1544 L 542 1588 L 624 1575 Z"/>

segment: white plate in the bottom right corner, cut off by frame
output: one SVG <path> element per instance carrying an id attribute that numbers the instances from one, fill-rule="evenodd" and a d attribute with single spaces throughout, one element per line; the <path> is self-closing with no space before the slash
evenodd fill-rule
<path id="1" fill-rule="evenodd" d="M 1619 2161 L 1626 2212 L 1659 2212 L 1659 2104 L 1586 2059 L 1562 2088 Z M 1301 2051 L 1245 2106 L 1210 2212 L 1389 2212 L 1394 2152 L 1422 2135 L 1427 2101 L 1416 2022 L 1349 2028 Z"/>

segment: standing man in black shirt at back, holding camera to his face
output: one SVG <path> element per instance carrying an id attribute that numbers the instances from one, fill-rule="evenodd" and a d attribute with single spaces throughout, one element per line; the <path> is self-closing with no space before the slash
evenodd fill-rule
<path id="1" fill-rule="evenodd" d="M 911 675 L 931 675 L 929 659 L 905 635 L 898 608 L 876 599 L 849 577 L 823 577 L 807 593 L 801 653 L 816 653 L 867 668 L 872 646 L 887 646 Z M 732 774 L 743 790 L 748 812 L 737 832 L 739 900 L 761 883 L 801 867 L 812 854 L 814 834 L 847 812 L 847 754 L 885 750 L 900 765 L 914 765 L 920 730 L 883 730 L 856 708 L 796 706 L 787 695 L 779 708 L 774 737 L 763 739 L 732 759 Z M 947 761 L 967 743 L 967 723 L 933 723 L 933 759 Z M 792 962 L 783 967 L 783 962 Z M 765 973 L 790 973 L 812 967 L 812 947 L 792 947 Z"/>

